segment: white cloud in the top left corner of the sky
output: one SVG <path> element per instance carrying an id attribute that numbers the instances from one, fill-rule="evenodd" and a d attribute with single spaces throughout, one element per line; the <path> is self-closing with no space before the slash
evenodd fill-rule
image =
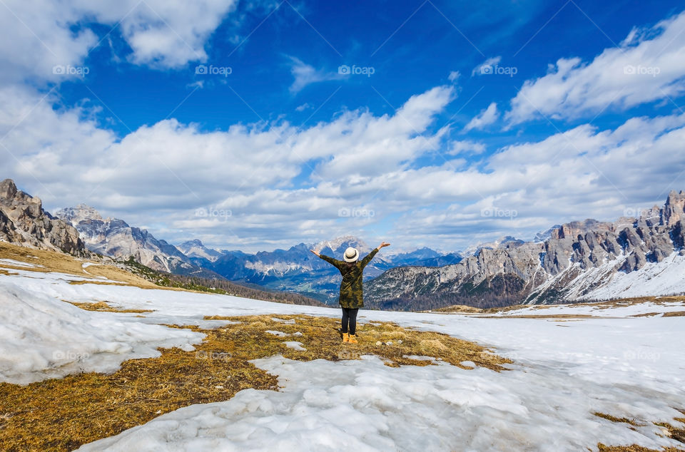
<path id="1" fill-rule="evenodd" d="M 188 61 L 204 61 L 205 41 L 236 4 L 235 0 L 5 1 L 0 14 L 5 36 L 0 41 L 0 82 L 61 81 L 69 66 L 76 73 L 98 45 L 98 36 L 83 26 L 89 22 L 116 25 L 112 33 L 121 33 L 131 46 L 128 58 L 133 63 L 178 68 Z M 54 71 L 56 66 L 66 74 Z"/>

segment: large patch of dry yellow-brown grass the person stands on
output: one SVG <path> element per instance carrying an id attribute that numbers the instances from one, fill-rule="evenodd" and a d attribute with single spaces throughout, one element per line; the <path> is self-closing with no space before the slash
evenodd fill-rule
<path id="1" fill-rule="evenodd" d="M 376 354 L 395 367 L 431 365 L 402 356 L 430 353 L 464 369 L 470 368 L 460 362 L 468 360 L 494 371 L 511 362 L 469 341 L 390 323 L 361 326 L 359 344 L 342 344 L 337 319 L 278 316 L 297 322 L 283 324 L 271 317 L 215 317 L 241 323 L 211 330 L 192 327 L 207 335 L 196 351 L 161 349 L 161 357 L 126 361 L 111 375 L 90 372 L 27 386 L 0 384 L 0 450 L 67 451 L 183 406 L 225 401 L 246 388 L 278 389 L 275 376 L 248 362 L 274 354 L 300 361 Z M 267 330 L 303 336 L 278 337 Z M 381 339 L 392 340 L 392 346 L 377 346 Z M 306 351 L 283 344 L 293 340 Z"/>

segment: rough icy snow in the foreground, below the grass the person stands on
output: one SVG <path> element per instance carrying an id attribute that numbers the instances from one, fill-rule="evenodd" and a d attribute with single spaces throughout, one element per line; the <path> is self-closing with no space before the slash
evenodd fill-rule
<path id="1" fill-rule="evenodd" d="M 80 451 L 355 450 L 567 451 L 609 444 L 677 446 L 654 425 L 614 416 L 672 416 L 668 401 L 535 372 L 391 368 L 377 356 L 349 361 L 250 361 L 278 375 L 281 391 L 244 389 L 225 402 L 178 409 Z M 427 434 L 430 432 L 430 434 Z M 553 433 L 552 433 L 553 432 Z"/>

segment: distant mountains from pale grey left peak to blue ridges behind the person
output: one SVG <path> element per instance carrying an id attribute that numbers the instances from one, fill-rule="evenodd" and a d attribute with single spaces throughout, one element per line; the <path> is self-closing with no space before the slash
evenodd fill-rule
<path id="1" fill-rule="evenodd" d="M 146 267 L 162 272 L 205 278 L 225 278 L 250 287 L 295 292 L 325 303 L 335 303 L 340 273 L 309 250 L 340 258 L 347 247 L 357 247 L 363 254 L 370 252 L 356 237 L 338 237 L 318 244 L 300 243 L 288 250 L 262 251 L 248 254 L 242 251 L 213 250 L 200 240 L 190 240 L 178 247 L 159 240 L 147 230 L 128 225 L 118 218 L 103 218 L 88 205 L 66 207 L 55 212 L 56 217 L 78 231 L 80 239 L 91 252 L 126 260 L 133 257 Z M 438 267 L 461 260 L 457 253 L 441 254 L 430 248 L 413 252 L 377 256 L 367 267 L 365 278 L 377 277 L 385 270 L 404 266 Z"/>

